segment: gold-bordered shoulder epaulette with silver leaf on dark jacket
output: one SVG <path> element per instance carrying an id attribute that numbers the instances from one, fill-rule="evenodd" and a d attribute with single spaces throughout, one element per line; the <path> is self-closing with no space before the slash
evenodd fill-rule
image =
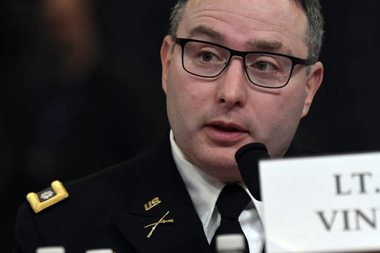
<path id="1" fill-rule="evenodd" d="M 30 192 L 26 195 L 30 206 L 35 213 L 41 212 L 46 207 L 52 206 L 55 203 L 69 196 L 65 187 L 58 180 L 51 183 L 51 187 L 46 188 L 38 193 Z"/>

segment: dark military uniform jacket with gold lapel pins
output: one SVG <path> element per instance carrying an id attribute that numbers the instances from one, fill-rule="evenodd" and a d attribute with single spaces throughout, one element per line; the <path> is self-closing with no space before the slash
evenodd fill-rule
<path id="1" fill-rule="evenodd" d="M 309 153 L 292 144 L 287 155 Z M 20 207 L 18 252 L 63 246 L 66 253 L 97 248 L 111 248 L 116 253 L 211 253 L 174 163 L 169 136 L 149 155 L 64 187 L 70 196 L 39 213 L 27 202 Z"/>

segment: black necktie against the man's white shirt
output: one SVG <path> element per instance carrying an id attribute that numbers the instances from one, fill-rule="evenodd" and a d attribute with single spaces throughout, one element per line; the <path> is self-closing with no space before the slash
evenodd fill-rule
<path id="1" fill-rule="evenodd" d="M 242 234 L 244 236 L 238 218 L 250 200 L 249 195 L 240 185 L 226 185 L 223 188 L 216 202 L 216 206 L 218 207 L 222 220 L 220 220 L 220 225 L 211 240 L 210 246 L 213 252 L 217 252 L 215 247 L 215 239 L 218 235 Z M 246 238 L 244 252 L 249 253 Z"/>

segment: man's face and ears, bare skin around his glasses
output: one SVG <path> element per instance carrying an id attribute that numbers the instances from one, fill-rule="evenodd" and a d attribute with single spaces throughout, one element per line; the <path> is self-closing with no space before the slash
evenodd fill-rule
<path id="1" fill-rule="evenodd" d="M 306 15 L 290 0 L 190 0 L 177 37 L 306 59 L 306 29 Z M 249 81 L 243 59 L 236 56 L 218 77 L 187 73 L 181 46 L 172 52 L 173 43 L 167 36 L 161 48 L 163 89 L 174 139 L 188 160 L 214 177 L 236 182 L 241 176 L 234 155 L 241 146 L 262 142 L 271 157 L 282 157 L 320 85 L 321 63 L 309 75 L 305 66 L 296 65 L 287 86 L 268 89 Z M 279 43 L 281 48 L 273 46 Z"/>

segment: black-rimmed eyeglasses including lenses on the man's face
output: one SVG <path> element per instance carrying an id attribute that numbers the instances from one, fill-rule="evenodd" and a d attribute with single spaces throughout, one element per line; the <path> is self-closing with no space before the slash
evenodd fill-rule
<path id="1" fill-rule="evenodd" d="M 244 59 L 249 81 L 260 87 L 281 88 L 288 84 L 295 65 L 312 65 L 310 60 L 271 52 L 242 52 L 215 43 L 177 38 L 182 47 L 185 71 L 200 77 L 217 77 L 234 55 Z"/>

